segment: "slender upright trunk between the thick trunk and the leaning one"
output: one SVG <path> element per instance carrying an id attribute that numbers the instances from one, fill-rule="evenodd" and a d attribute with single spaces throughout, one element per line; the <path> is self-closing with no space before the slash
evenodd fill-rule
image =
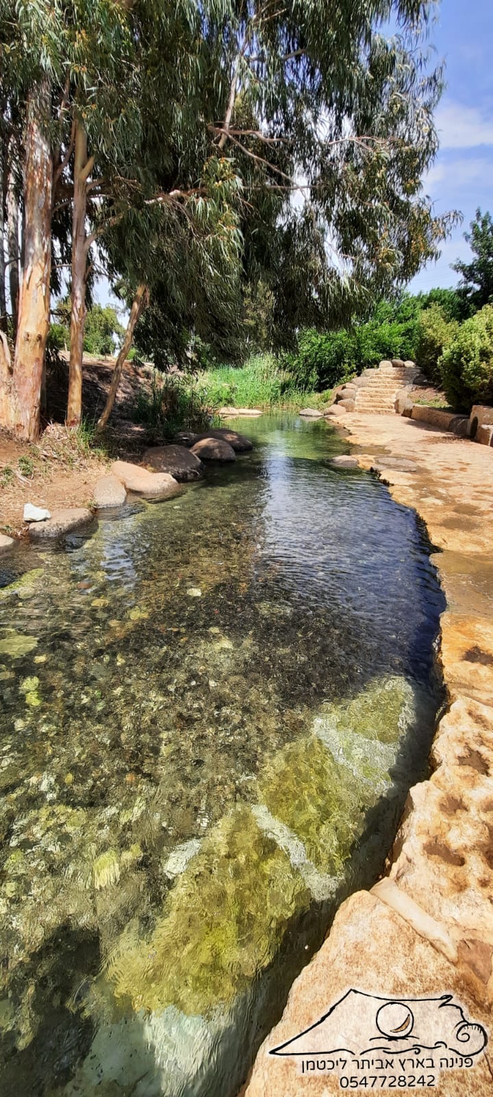
<path id="1" fill-rule="evenodd" d="M 78 427 L 82 418 L 82 354 L 84 346 L 85 290 L 88 248 L 85 214 L 88 206 L 88 136 L 82 123 L 76 121 L 72 210 L 72 290 L 70 314 L 70 361 L 67 423 Z M 89 170 L 88 170 L 89 168 Z"/>

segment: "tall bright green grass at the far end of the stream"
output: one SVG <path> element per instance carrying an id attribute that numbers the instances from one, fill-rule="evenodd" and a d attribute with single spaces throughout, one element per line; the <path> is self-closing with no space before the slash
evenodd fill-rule
<path id="1" fill-rule="evenodd" d="M 326 393 L 303 388 L 274 354 L 252 354 L 242 366 L 221 365 L 198 377 L 203 399 L 213 408 L 299 408 L 308 397 L 313 404 L 328 398 Z"/>

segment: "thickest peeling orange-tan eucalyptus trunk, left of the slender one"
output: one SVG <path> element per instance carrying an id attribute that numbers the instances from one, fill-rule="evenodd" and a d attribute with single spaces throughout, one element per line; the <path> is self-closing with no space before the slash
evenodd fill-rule
<path id="1" fill-rule="evenodd" d="M 41 386 L 49 329 L 53 191 L 49 113 L 50 84 L 44 78 L 34 86 L 27 101 L 24 269 L 12 374 L 12 426 L 19 438 L 30 442 L 39 434 Z"/>

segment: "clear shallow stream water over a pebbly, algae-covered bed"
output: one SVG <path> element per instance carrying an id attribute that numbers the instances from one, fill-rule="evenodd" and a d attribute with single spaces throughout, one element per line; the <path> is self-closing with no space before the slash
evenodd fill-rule
<path id="1" fill-rule="evenodd" d="M 415 517 L 324 422 L 238 429 L 177 500 L 4 565 L 2 1094 L 232 1097 L 423 774 Z"/>

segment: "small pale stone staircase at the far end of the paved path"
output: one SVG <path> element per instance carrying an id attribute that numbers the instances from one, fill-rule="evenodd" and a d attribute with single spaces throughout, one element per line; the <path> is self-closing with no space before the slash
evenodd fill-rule
<path id="1" fill-rule="evenodd" d="M 377 369 L 365 370 L 359 377 L 344 385 L 337 402 L 343 403 L 347 411 L 392 415 L 397 394 L 406 385 L 412 385 L 417 373 L 414 362 L 403 362 L 401 359 L 380 362 Z"/>

